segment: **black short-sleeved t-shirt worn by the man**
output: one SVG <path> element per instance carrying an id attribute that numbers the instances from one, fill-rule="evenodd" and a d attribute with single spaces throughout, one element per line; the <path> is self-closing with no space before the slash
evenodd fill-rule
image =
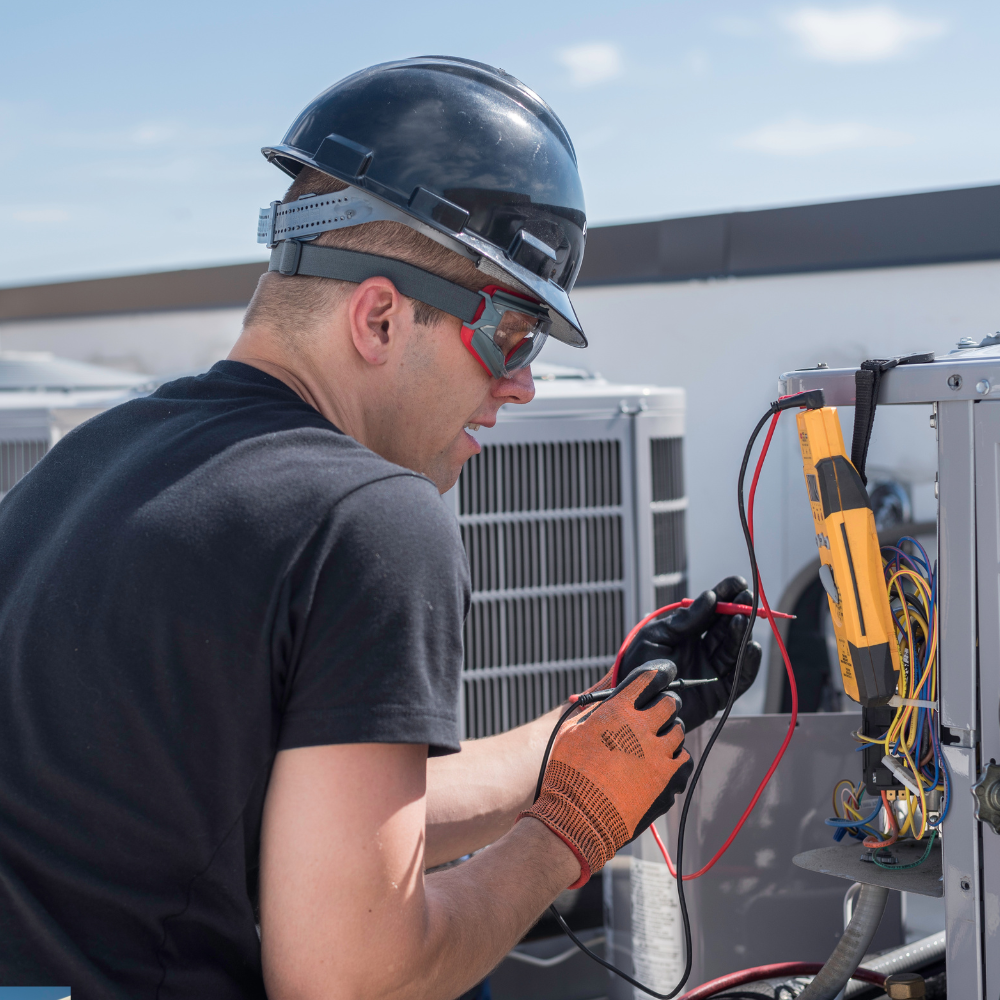
<path id="1" fill-rule="evenodd" d="M 0 503 L 0 984 L 264 997 L 275 753 L 457 750 L 468 595 L 433 484 L 248 365 L 57 444 Z"/>

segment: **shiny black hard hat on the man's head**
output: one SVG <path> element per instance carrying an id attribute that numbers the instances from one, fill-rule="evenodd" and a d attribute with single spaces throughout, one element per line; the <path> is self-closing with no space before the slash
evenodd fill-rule
<path id="1" fill-rule="evenodd" d="M 374 196 L 391 210 L 381 217 L 513 279 L 549 307 L 552 336 L 586 347 L 568 294 L 587 233 L 576 152 L 555 112 L 508 73 L 450 56 L 371 66 L 261 152 L 293 177 L 308 166 Z"/>

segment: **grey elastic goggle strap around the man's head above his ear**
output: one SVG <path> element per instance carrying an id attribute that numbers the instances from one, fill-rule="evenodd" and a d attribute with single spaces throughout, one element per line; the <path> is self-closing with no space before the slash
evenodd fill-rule
<path id="1" fill-rule="evenodd" d="M 476 318 L 483 301 L 478 292 L 405 261 L 357 250 L 316 247 L 297 240 L 279 243 L 271 251 L 271 263 L 267 269 L 284 275 L 304 274 L 356 283 L 368 278 L 388 278 L 407 298 L 426 302 L 435 309 L 457 316 L 463 323 L 471 323 Z"/>

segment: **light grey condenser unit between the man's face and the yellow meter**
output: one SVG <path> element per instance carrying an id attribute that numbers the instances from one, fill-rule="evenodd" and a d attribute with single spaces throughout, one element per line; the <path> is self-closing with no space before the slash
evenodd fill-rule
<path id="1" fill-rule="evenodd" d="M 593 684 L 638 618 L 687 594 L 684 390 L 534 372 L 447 494 L 472 573 L 467 738 Z"/>

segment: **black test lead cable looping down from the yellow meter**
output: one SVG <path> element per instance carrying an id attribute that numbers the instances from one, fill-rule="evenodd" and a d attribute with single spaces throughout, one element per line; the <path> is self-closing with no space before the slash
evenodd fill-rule
<path id="1" fill-rule="evenodd" d="M 746 655 L 747 646 L 750 645 L 750 638 L 753 635 L 754 622 L 757 620 L 757 608 L 760 606 L 760 588 L 757 586 L 757 553 L 754 550 L 753 538 L 750 535 L 750 526 L 747 524 L 746 510 L 744 509 L 743 483 L 746 479 L 747 466 L 750 464 L 750 454 L 753 451 L 753 446 L 757 441 L 757 437 L 763 429 L 764 424 L 766 424 L 776 412 L 776 407 L 771 406 L 767 413 L 760 418 L 757 422 L 757 426 L 753 429 L 753 433 L 750 435 L 750 440 L 747 442 L 746 451 L 743 453 L 743 464 L 740 466 L 740 475 L 737 482 L 736 495 L 740 507 L 740 524 L 743 527 L 743 538 L 746 541 L 747 554 L 750 556 L 750 579 L 753 581 L 751 583 L 751 587 L 753 588 L 753 603 L 751 605 L 750 617 L 747 620 L 747 627 L 743 632 L 743 639 L 740 642 L 740 651 L 736 657 L 736 669 L 733 672 L 733 686 L 729 692 L 729 700 L 726 702 L 726 707 L 722 712 L 722 718 L 719 719 L 718 724 L 712 731 L 712 735 L 708 739 L 708 743 L 705 744 L 705 750 L 701 755 L 701 760 L 698 761 L 698 766 L 695 768 L 694 774 L 691 776 L 690 784 L 688 785 L 684 796 L 684 808 L 681 810 L 681 820 L 677 826 L 677 901 L 680 904 L 681 922 L 684 926 L 684 975 L 681 976 L 680 982 L 678 982 L 678 984 L 669 993 L 657 993 L 656 990 L 650 989 L 648 986 L 643 986 L 643 984 L 637 979 L 633 979 L 630 975 L 622 972 L 621 969 L 612 965 L 610 962 L 606 962 L 600 957 L 600 955 L 595 955 L 594 952 L 591 951 L 590 948 L 588 948 L 576 936 L 576 934 L 573 933 L 572 930 L 570 930 L 569 924 L 566 923 L 562 914 L 555 908 L 555 904 L 549 907 L 552 911 L 552 915 L 556 918 L 556 921 L 559 923 L 559 926 L 562 927 L 566 936 L 577 946 L 577 948 L 580 949 L 580 951 L 592 958 L 598 963 L 598 965 L 603 965 L 605 969 L 608 969 L 619 978 L 624 979 L 625 982 L 636 987 L 636 989 L 642 990 L 643 993 L 648 993 L 654 998 L 654 1000 L 672 1000 L 672 998 L 677 996 L 677 994 L 684 988 L 684 984 L 688 981 L 688 978 L 691 975 L 691 966 L 694 959 L 694 953 L 691 947 L 691 919 L 688 915 L 687 900 L 684 898 L 684 874 L 681 868 L 684 861 L 684 833 L 687 830 L 688 813 L 691 809 L 691 802 L 694 799 L 694 790 L 698 784 L 698 779 L 701 777 L 701 772 L 705 769 L 705 762 L 708 760 L 708 755 L 712 752 L 712 747 L 715 746 L 715 742 L 722 732 L 722 727 L 728 721 L 729 713 L 733 710 L 733 705 L 736 703 L 736 692 L 739 690 L 740 674 L 743 672 L 743 659 Z M 552 730 L 552 735 L 549 736 L 549 742 L 545 748 L 545 754 L 542 756 L 542 767 L 538 773 L 538 786 L 535 790 L 536 799 L 542 794 L 542 779 L 545 777 L 545 768 L 549 761 L 549 754 L 552 752 L 552 744 L 555 743 L 556 734 L 559 732 L 562 724 L 569 717 L 570 713 L 576 708 L 576 705 L 570 705 L 570 707 L 563 712 L 563 714 L 559 717 L 559 721 L 556 723 L 555 728 Z"/>

